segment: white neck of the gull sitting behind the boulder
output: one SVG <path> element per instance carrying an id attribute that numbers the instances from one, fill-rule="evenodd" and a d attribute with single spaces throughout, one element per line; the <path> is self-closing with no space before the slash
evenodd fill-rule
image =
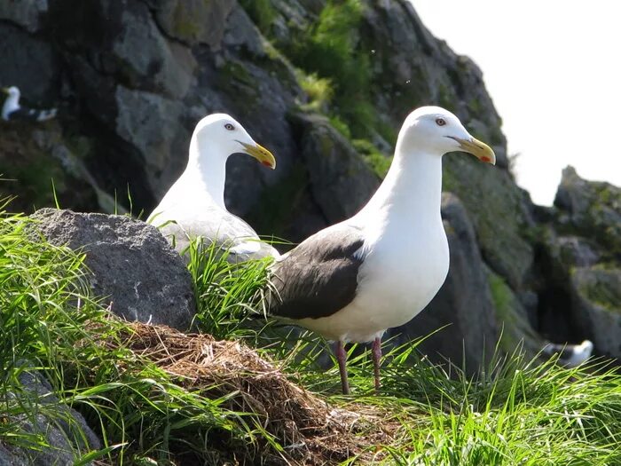
<path id="1" fill-rule="evenodd" d="M 185 183 L 200 186 L 201 192 L 207 192 L 217 206 L 226 209 L 224 206 L 224 182 L 226 181 L 226 159 L 228 157 L 221 157 L 220 152 L 216 147 L 206 145 L 199 148 L 198 141 L 193 137 L 190 141 L 190 157 L 183 178 L 185 178 Z M 206 156 L 200 157 L 200 153 Z"/>

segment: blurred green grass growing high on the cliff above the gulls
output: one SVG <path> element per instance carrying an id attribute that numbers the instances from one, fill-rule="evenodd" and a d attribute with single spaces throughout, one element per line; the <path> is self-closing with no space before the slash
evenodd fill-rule
<path id="1" fill-rule="evenodd" d="M 270 38 L 271 21 L 277 15 L 271 1 L 241 4 Z M 390 159 L 373 146 L 369 134 L 381 135 L 389 144 L 396 142 L 397 134 L 378 120 L 371 103 L 372 52 L 364 50 L 360 40 L 364 8 L 360 0 L 328 0 L 307 34 L 279 45 L 295 65 L 297 82 L 308 96 L 301 109 L 326 115 L 383 178 Z"/>

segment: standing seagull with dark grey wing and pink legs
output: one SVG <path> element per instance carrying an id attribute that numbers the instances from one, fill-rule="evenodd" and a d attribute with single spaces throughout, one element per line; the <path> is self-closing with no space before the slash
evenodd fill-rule
<path id="1" fill-rule="evenodd" d="M 490 146 L 457 116 L 421 107 L 399 131 L 386 178 L 354 217 L 327 227 L 271 266 L 266 309 L 335 342 L 342 392 L 350 392 L 344 344 L 373 342 L 380 390 L 381 336 L 431 301 L 449 270 L 440 217 L 442 156 L 463 151 L 495 164 Z"/>

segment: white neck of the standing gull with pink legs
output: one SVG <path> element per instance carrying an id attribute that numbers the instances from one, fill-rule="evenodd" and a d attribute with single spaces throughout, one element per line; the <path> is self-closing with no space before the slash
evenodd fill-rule
<path id="1" fill-rule="evenodd" d="M 406 151 L 400 142 L 386 178 L 360 214 L 375 217 L 380 212 L 423 224 L 441 222 L 442 156 Z"/>

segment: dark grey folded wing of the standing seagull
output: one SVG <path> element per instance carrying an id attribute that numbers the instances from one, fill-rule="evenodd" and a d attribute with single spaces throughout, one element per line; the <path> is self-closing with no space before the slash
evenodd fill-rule
<path id="1" fill-rule="evenodd" d="M 288 319 L 327 317 L 350 304 L 358 288 L 364 244 L 358 227 L 314 234 L 272 267 L 268 312 Z"/>

